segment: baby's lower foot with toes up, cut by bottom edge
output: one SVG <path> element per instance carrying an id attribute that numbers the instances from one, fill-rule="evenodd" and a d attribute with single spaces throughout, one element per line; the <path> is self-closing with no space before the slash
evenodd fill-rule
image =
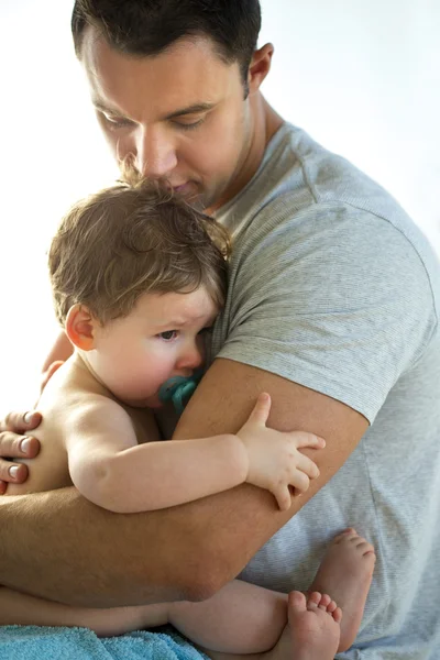
<path id="1" fill-rule="evenodd" d="M 341 609 L 327 594 L 288 596 L 288 624 L 264 658 L 271 660 L 333 660 L 340 637 Z"/>

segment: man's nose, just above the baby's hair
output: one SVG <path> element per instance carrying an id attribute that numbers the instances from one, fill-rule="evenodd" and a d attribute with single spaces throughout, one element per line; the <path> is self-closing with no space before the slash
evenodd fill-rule
<path id="1" fill-rule="evenodd" d="M 161 129 L 141 127 L 136 135 L 134 165 L 146 178 L 166 178 L 177 165 L 170 135 Z"/>

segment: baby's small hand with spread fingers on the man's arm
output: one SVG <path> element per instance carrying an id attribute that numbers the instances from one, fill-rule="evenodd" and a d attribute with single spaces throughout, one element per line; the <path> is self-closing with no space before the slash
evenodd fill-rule
<path id="1" fill-rule="evenodd" d="M 288 486 L 305 493 L 310 480 L 319 476 L 311 459 L 298 451 L 309 447 L 322 449 L 326 441 L 304 431 L 280 432 L 266 427 L 271 397 L 261 394 L 248 421 L 237 436 L 243 442 L 249 458 L 246 482 L 271 491 L 282 510 L 292 504 Z"/>

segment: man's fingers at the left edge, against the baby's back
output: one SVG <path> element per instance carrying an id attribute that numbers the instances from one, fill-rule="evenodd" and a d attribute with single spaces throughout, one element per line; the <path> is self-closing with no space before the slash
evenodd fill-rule
<path id="1" fill-rule="evenodd" d="M 40 442 L 29 436 L 42 420 L 40 413 L 10 413 L 0 421 L 0 495 L 8 483 L 21 484 L 28 479 L 28 466 L 13 459 L 33 459 L 40 451 Z"/>

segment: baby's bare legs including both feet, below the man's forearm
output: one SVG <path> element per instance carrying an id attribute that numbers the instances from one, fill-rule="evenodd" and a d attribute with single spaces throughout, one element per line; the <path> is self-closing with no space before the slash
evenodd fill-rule
<path id="1" fill-rule="evenodd" d="M 346 649 L 355 638 L 374 560 L 372 546 L 354 530 L 337 537 L 311 585 L 314 593 L 289 594 L 288 625 L 286 595 L 241 581 L 201 603 L 112 609 L 69 607 L 0 587 L 0 625 L 84 626 L 106 637 L 170 623 L 216 660 L 249 653 L 265 660 L 327 660 L 338 644 L 339 650 Z M 320 585 L 343 606 L 342 631 L 341 610 L 330 596 L 317 593 Z"/>

